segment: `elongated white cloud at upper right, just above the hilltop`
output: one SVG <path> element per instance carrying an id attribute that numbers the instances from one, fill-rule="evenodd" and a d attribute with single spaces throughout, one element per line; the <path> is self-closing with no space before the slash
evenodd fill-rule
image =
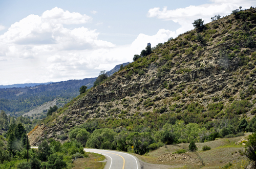
<path id="1" fill-rule="evenodd" d="M 212 0 L 213 4 L 204 4 L 200 6 L 189 6 L 186 8 L 178 8 L 174 10 L 167 10 L 164 7 L 162 10 L 160 8 L 152 8 L 148 10 L 147 17 L 157 17 L 163 20 L 173 20 L 178 22 L 181 27 L 176 30 L 177 34 L 182 34 L 186 31 L 194 29 L 191 24 L 194 20 L 202 18 L 205 23 L 210 22 L 210 18 L 220 14 L 221 16 L 226 16 L 231 13 L 232 10 L 238 9 L 239 6 L 243 6 L 244 9 L 249 8 L 250 5 L 255 5 L 255 1 L 220 1 Z M 249 5 L 250 4 L 250 5 Z"/>

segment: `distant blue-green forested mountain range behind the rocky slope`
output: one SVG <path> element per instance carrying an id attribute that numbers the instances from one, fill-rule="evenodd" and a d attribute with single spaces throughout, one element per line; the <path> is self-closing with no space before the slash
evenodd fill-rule
<path id="1" fill-rule="evenodd" d="M 127 64 L 129 62 L 123 63 L 123 66 Z M 116 65 L 114 69 L 106 73 L 111 76 L 120 69 L 120 66 L 121 64 Z M 4 110 L 12 116 L 21 116 L 37 106 L 57 98 L 69 101 L 79 95 L 81 86 L 92 88 L 96 79 L 97 77 L 59 82 L 2 85 L 0 88 L 0 110 Z M 62 105 L 63 100 L 58 100 L 57 104 Z"/>

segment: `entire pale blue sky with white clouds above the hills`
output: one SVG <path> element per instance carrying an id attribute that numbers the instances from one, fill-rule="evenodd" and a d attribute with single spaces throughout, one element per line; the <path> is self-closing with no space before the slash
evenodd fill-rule
<path id="1" fill-rule="evenodd" d="M 0 0 L 0 85 L 97 77 L 256 0 Z"/>

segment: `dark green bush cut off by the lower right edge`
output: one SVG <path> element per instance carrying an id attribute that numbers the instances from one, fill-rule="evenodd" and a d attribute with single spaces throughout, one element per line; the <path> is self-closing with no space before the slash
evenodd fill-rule
<path id="1" fill-rule="evenodd" d="M 246 143 L 245 155 L 252 161 L 256 161 L 256 133 L 249 135 Z"/>

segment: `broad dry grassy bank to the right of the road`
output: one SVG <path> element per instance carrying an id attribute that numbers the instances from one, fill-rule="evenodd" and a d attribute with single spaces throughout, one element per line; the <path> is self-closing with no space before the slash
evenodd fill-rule
<path id="1" fill-rule="evenodd" d="M 244 146 L 236 145 L 234 143 L 238 142 L 242 137 L 246 137 L 250 133 L 246 133 L 245 136 L 239 136 L 234 138 L 220 138 L 212 142 L 206 143 L 196 143 L 198 151 L 189 152 L 189 156 L 195 158 L 192 162 L 182 161 L 182 160 L 158 160 L 158 157 L 163 154 L 174 153 L 180 149 L 187 149 L 189 144 L 178 144 L 178 145 L 167 145 L 158 148 L 147 154 L 147 156 L 138 156 L 139 159 L 148 163 L 154 164 L 165 164 L 170 165 L 170 167 L 176 168 L 220 168 L 225 164 L 233 161 L 245 161 L 246 156 L 240 154 L 244 151 Z M 202 151 L 203 146 L 211 147 L 211 150 Z M 198 162 L 201 161 L 201 162 Z M 202 165 L 204 163 L 205 165 Z"/>

